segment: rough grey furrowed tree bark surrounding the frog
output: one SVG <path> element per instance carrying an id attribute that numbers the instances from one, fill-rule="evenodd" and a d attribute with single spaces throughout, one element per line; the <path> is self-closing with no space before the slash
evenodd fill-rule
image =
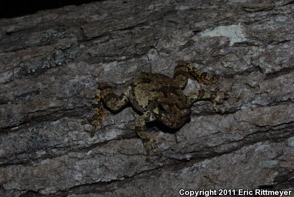
<path id="1" fill-rule="evenodd" d="M 177 196 L 294 189 L 294 1 L 104 1 L 0 20 L 0 196 Z M 81 125 L 98 81 L 121 92 L 179 59 L 240 99 L 192 107 L 145 162 L 131 107 Z M 185 91 L 198 87 L 189 80 Z M 292 195 L 293 196 L 293 195 Z"/>

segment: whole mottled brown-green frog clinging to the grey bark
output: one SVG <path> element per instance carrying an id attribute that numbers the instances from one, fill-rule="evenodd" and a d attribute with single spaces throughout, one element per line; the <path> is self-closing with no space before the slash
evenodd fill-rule
<path id="1" fill-rule="evenodd" d="M 183 89 L 190 76 L 197 80 L 200 89 L 186 95 Z M 82 124 L 92 125 L 90 136 L 93 137 L 97 128 L 103 127 L 102 103 L 113 113 L 118 113 L 130 104 L 140 114 L 135 120 L 135 130 L 145 148 L 145 160 L 150 162 L 151 155 L 162 156 L 162 152 L 156 147 L 163 139 L 151 136 L 146 123 L 158 121 L 167 128 L 177 129 L 185 124 L 195 102 L 210 100 L 213 105 L 223 104 L 229 98 L 229 94 L 219 91 L 218 81 L 218 75 L 201 72 L 192 63 L 179 60 L 173 78 L 160 73 L 142 72 L 121 95 L 117 95 L 115 89 L 107 82 L 100 82 L 90 117 Z"/>

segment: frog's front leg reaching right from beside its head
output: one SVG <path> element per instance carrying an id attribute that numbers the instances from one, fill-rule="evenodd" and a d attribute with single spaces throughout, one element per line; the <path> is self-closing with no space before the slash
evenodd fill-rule
<path id="1" fill-rule="evenodd" d="M 224 91 L 212 91 L 208 89 L 201 89 L 195 92 L 191 92 L 188 94 L 188 103 L 192 105 L 198 100 L 210 99 L 212 103 L 215 104 L 222 104 L 226 98 L 229 98 L 227 92 Z"/>

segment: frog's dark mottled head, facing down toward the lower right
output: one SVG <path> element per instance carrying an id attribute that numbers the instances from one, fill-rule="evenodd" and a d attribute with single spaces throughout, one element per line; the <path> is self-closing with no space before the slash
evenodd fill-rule
<path id="1" fill-rule="evenodd" d="M 178 128 L 185 123 L 190 114 L 189 106 L 179 106 L 177 103 L 159 104 L 153 110 L 157 120 L 170 128 Z"/>

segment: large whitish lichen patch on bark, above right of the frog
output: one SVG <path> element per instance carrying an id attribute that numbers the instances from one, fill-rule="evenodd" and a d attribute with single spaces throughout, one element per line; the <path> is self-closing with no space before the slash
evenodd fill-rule
<path id="1" fill-rule="evenodd" d="M 228 26 L 218 26 L 212 30 L 205 30 L 200 34 L 201 37 L 219 37 L 225 36 L 230 38 L 230 46 L 233 46 L 235 43 L 241 43 L 246 41 L 246 37 L 244 34 L 244 30 L 242 25 L 239 23 L 238 25 L 228 25 Z"/>

